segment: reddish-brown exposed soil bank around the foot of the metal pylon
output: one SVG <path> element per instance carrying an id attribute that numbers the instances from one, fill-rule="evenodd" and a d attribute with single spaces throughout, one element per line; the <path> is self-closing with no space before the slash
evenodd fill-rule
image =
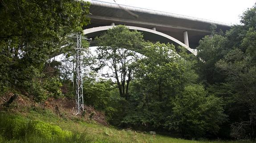
<path id="1" fill-rule="evenodd" d="M 4 103 L 12 97 L 14 93 L 6 93 L 4 96 L 0 97 L 0 110 L 6 110 Z M 65 116 L 67 118 L 72 118 L 73 116 L 79 117 L 83 120 L 94 120 L 98 124 L 108 126 L 106 121 L 106 116 L 104 112 L 97 111 L 91 106 L 84 106 L 84 112 L 77 114 L 75 109 L 75 100 L 70 100 L 67 98 L 55 99 L 53 97 L 48 98 L 44 102 L 36 103 L 32 98 L 24 95 L 18 95 L 18 97 L 12 102 L 11 106 L 8 108 L 10 112 L 27 112 L 24 109 L 29 109 L 31 107 L 40 107 L 43 109 L 49 109 L 56 113 L 58 116 Z"/>

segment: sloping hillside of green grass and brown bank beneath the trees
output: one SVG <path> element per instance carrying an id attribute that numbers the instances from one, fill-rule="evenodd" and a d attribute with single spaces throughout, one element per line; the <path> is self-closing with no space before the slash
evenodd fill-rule
<path id="1" fill-rule="evenodd" d="M 12 93 L 9 93 L 10 96 Z M 7 96 L 7 97 L 8 97 Z M 7 98 L 5 97 L 5 98 Z M 56 112 L 56 105 L 59 112 Z M 9 107 L 0 106 L 1 143 L 209 143 L 150 135 L 130 129 L 118 130 L 106 124 L 101 112 L 86 107 L 83 115 L 72 114 L 72 100 L 49 99 L 44 104 L 18 95 Z M 91 114 L 94 112 L 94 115 Z M 91 117 L 90 117 L 91 116 Z M 211 143 L 222 143 L 214 141 Z M 247 143 L 229 141 L 228 143 Z"/>

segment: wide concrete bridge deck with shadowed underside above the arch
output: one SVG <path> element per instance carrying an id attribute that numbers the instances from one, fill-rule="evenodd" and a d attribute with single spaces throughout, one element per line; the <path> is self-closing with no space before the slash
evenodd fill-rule
<path id="1" fill-rule="evenodd" d="M 198 46 L 199 40 L 205 35 L 209 35 L 211 33 L 211 24 L 216 24 L 217 29 L 221 29 L 222 31 L 226 31 L 230 28 L 230 25 L 227 23 L 220 23 L 185 15 L 130 7 L 126 5 L 101 2 L 98 0 L 85 1 L 89 1 L 91 3 L 89 9 L 91 13 L 91 15 L 89 15 L 91 18 L 91 24 L 85 28 L 108 26 L 110 23 L 115 23 L 115 25 L 122 24 L 143 27 L 148 29 L 155 28 L 156 31 L 170 35 L 183 43 L 183 32 L 187 31 L 189 46 L 192 48 Z M 131 15 L 129 12 L 132 12 L 137 16 Z M 166 39 L 155 39 L 158 37 L 150 35 L 149 33 L 145 33 L 144 35 L 146 39 L 151 41 L 162 40 L 165 43 L 169 42 L 166 41 Z M 91 36 L 93 37 L 96 35 Z"/>

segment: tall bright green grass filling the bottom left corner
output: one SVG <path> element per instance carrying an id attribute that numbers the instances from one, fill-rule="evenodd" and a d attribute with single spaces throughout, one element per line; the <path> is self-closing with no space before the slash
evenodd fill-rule
<path id="1" fill-rule="evenodd" d="M 0 114 L 1 143 L 89 143 L 104 142 L 97 136 L 89 136 L 85 132 L 66 131 L 59 126 L 39 120 L 29 120 L 19 115 Z"/>

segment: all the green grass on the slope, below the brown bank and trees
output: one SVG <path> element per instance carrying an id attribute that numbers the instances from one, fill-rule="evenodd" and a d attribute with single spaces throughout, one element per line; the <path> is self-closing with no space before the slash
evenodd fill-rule
<path id="1" fill-rule="evenodd" d="M 38 124 L 34 126 L 34 124 Z M 36 128 L 37 127 L 37 128 Z M 59 128 L 60 127 L 60 128 Z M 13 128 L 13 130 L 10 130 Z M 57 132 L 57 133 L 56 133 Z M 69 134 L 70 133 L 70 134 Z M 0 112 L 0 143 L 210 143 L 118 130 L 79 117 L 67 119 L 49 110 L 34 108 L 26 113 Z M 214 141 L 211 143 L 248 143 Z"/>

